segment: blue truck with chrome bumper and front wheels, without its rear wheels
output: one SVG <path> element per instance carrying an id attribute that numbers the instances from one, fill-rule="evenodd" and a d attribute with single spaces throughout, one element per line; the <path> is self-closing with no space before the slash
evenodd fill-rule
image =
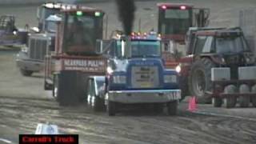
<path id="1" fill-rule="evenodd" d="M 118 38 L 118 51 L 109 62 L 106 76 L 106 107 L 109 115 L 123 104 L 154 104 L 168 114 L 176 114 L 181 90 L 178 73 L 167 70 L 161 58 L 161 38 L 157 34 L 131 34 Z"/>

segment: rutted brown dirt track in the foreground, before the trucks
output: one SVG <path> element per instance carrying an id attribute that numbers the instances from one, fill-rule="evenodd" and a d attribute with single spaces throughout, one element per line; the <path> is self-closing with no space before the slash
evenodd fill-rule
<path id="1" fill-rule="evenodd" d="M 1 98 L 0 135 L 17 142 L 38 122 L 52 122 L 62 134 L 79 134 L 80 143 L 255 143 L 255 118 L 192 114 L 180 106 L 176 117 L 130 112 L 108 117 L 86 106 L 59 107 L 53 99 Z M 255 114 L 255 113 L 254 113 Z"/>

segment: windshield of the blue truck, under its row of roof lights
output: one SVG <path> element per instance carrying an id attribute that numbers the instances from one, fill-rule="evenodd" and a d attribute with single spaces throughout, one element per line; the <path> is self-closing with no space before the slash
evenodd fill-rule
<path id="1" fill-rule="evenodd" d="M 131 57 L 160 57 L 159 41 L 133 41 L 131 42 Z"/>

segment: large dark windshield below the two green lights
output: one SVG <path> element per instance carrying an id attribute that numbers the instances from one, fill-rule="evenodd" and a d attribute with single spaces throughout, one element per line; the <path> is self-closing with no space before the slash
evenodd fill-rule
<path id="1" fill-rule="evenodd" d="M 102 18 L 68 15 L 64 37 L 66 37 L 66 52 L 95 54 L 96 39 L 102 38 Z"/>

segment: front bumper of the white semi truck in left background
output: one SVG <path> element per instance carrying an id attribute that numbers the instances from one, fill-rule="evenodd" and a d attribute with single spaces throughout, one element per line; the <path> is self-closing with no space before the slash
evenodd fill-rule
<path id="1" fill-rule="evenodd" d="M 26 54 L 22 54 L 22 52 L 16 55 L 16 64 L 22 70 L 35 72 L 41 71 L 44 68 L 44 62 L 29 59 L 26 57 Z"/>

